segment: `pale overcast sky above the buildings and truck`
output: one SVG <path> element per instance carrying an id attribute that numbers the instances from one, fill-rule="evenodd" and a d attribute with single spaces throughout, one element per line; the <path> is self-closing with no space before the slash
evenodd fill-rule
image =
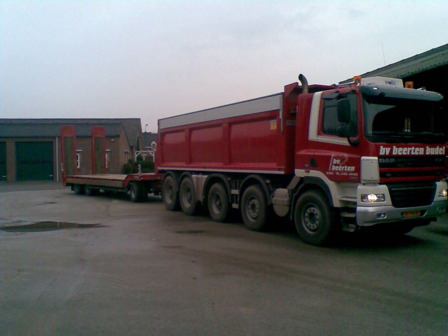
<path id="1" fill-rule="evenodd" d="M 157 119 L 448 43 L 448 1 L 0 1 L 0 117 Z M 383 53 L 384 50 L 384 53 Z"/>

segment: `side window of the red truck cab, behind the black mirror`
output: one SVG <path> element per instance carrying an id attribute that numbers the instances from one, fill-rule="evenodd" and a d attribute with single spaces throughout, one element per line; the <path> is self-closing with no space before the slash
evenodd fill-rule
<path id="1" fill-rule="evenodd" d="M 349 93 L 347 98 L 350 102 L 350 134 L 358 135 L 358 114 L 356 106 L 356 95 Z M 337 135 L 337 128 L 343 124 L 337 121 L 337 99 L 324 100 L 322 132 L 329 135 Z"/>

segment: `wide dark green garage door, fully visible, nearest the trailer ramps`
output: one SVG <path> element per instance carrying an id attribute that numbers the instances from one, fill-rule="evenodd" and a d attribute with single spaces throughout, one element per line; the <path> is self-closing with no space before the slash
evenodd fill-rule
<path id="1" fill-rule="evenodd" d="M 16 142 L 17 181 L 53 180 L 53 142 Z"/>

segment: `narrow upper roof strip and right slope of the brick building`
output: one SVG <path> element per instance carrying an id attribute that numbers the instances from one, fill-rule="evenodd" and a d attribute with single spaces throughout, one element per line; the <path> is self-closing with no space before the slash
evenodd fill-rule
<path id="1" fill-rule="evenodd" d="M 137 138 L 141 137 L 141 121 L 140 118 L 38 118 L 38 119 L 0 119 L 0 124 L 54 124 L 59 128 L 59 125 L 73 125 L 73 124 L 89 124 L 90 126 L 101 126 L 111 123 L 121 123 L 124 126 L 124 131 L 128 139 L 129 145 L 137 147 Z M 3 136 L 0 130 L 0 137 Z M 55 135 L 56 136 L 56 135 Z M 90 133 L 89 133 L 90 136 Z"/>

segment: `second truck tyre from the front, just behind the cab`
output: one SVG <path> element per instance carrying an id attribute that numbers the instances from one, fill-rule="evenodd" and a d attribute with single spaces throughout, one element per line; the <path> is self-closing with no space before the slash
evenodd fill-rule
<path id="1" fill-rule="evenodd" d="M 268 209 L 266 196 L 260 186 L 248 187 L 241 199 L 241 216 L 249 230 L 261 231 L 266 227 Z"/>

